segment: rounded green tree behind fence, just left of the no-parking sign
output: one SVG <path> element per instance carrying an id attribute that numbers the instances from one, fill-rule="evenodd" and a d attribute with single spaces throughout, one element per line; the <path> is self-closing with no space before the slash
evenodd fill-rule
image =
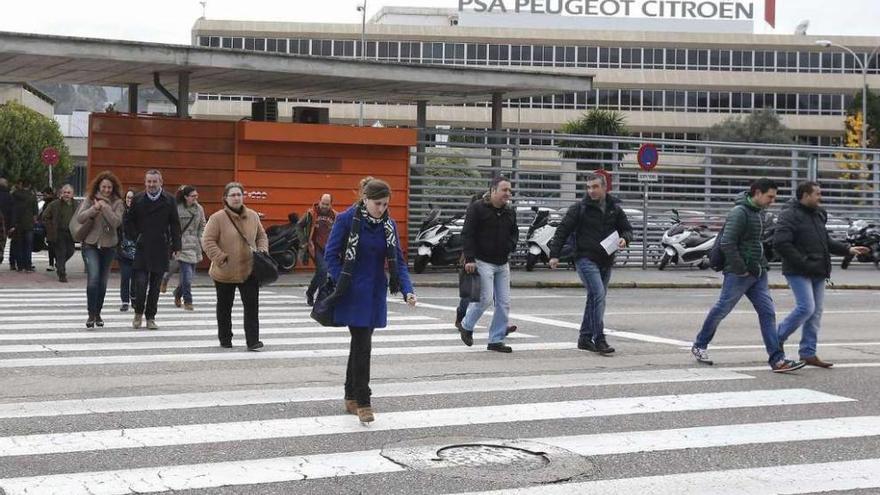
<path id="1" fill-rule="evenodd" d="M 560 128 L 560 132 L 583 136 L 626 136 L 629 134 L 623 115 L 615 111 L 599 109 L 590 110 L 579 119 L 566 122 Z M 613 147 L 613 144 L 607 141 L 563 139 L 559 141 L 559 147 L 562 148 L 559 154 L 563 158 L 578 160 L 578 171 L 608 170 L 618 159 L 617 153 L 600 151 Z"/>

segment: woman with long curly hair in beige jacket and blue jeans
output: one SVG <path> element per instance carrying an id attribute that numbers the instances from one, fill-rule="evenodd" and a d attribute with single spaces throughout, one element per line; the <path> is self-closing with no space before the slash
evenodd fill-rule
<path id="1" fill-rule="evenodd" d="M 88 195 L 74 215 L 81 229 L 89 229 L 82 241 L 82 256 L 86 267 L 86 299 L 89 319 L 86 328 L 104 326 L 101 309 L 107 294 L 110 265 L 116 255 L 119 239 L 116 229 L 122 224 L 125 206 L 122 202 L 122 185 L 110 172 L 101 172 L 89 185 Z"/>

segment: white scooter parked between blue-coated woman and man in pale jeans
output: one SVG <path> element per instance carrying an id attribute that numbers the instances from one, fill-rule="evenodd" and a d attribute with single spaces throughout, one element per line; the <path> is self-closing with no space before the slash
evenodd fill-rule
<path id="1" fill-rule="evenodd" d="M 415 238 L 418 254 L 413 262 L 413 270 L 422 273 L 429 262 L 434 266 L 458 263 L 464 249 L 461 239 L 462 228 L 464 228 L 464 214 L 459 213 L 444 222 L 440 220 L 439 209 L 431 210 Z"/>

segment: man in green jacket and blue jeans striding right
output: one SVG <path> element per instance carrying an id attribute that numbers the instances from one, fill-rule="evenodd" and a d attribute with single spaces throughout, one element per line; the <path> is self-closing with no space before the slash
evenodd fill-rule
<path id="1" fill-rule="evenodd" d="M 776 201 L 778 186 L 770 179 L 752 183 L 736 206 L 727 214 L 721 232 L 721 250 L 724 253 L 724 282 L 718 302 L 709 310 L 703 328 L 694 340 L 691 354 L 698 362 L 712 364 L 707 348 L 718 325 L 736 306 L 743 295 L 749 298 L 761 325 L 761 337 L 769 356 L 772 371 L 785 373 L 804 367 L 803 361 L 785 359 L 776 329 L 776 308 L 767 284 L 767 260 L 761 244 L 764 225 L 760 212 Z"/>

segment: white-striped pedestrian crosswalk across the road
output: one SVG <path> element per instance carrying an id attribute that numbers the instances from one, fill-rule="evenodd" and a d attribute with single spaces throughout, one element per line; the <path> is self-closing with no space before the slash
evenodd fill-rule
<path id="1" fill-rule="evenodd" d="M 392 305 L 364 426 L 342 410 L 346 328 L 316 326 L 298 292 L 273 289 L 265 352 L 244 350 L 240 309 L 236 347 L 221 349 L 213 291 L 194 295 L 192 312 L 163 296 L 158 331 L 115 306 L 86 330 L 83 289 L 0 288 L 0 494 L 880 491 L 873 398 L 808 371 L 600 369 L 607 358 L 561 331 L 525 328 L 502 356 L 457 342 L 446 311 Z M 506 442 L 543 460 L 493 454 Z M 842 448 L 785 455 L 820 443 Z M 547 482 L 559 452 L 592 468 Z"/>

